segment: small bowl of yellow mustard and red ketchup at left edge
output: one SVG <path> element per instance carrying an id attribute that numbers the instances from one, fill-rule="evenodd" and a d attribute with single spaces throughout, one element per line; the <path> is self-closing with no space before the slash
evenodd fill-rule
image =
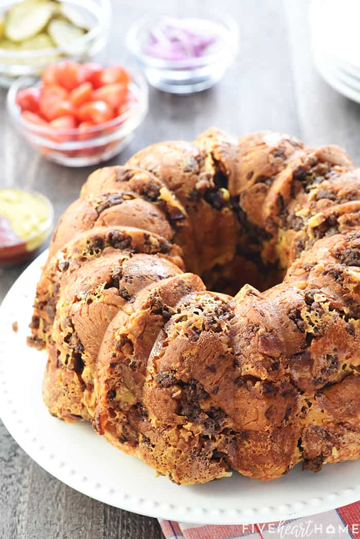
<path id="1" fill-rule="evenodd" d="M 53 207 L 36 191 L 0 189 L 0 264 L 29 259 L 49 236 Z"/>

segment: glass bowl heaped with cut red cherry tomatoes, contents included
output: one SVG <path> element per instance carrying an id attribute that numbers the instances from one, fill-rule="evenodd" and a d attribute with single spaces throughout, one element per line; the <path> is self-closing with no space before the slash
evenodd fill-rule
<path id="1" fill-rule="evenodd" d="M 52 64 L 41 79 L 18 79 L 7 100 L 25 139 L 56 163 L 84 167 L 120 153 L 144 120 L 148 88 L 142 75 L 120 65 Z"/>

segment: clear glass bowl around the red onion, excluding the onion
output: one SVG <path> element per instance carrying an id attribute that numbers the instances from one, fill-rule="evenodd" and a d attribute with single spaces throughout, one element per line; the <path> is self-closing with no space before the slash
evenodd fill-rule
<path id="1" fill-rule="evenodd" d="M 178 13 L 176 13 L 178 15 Z M 179 15 L 181 16 L 181 14 Z M 201 20 L 202 25 L 218 34 L 215 49 L 203 56 L 184 60 L 164 60 L 144 52 L 151 28 L 159 22 L 159 16 L 150 15 L 137 20 L 128 30 L 126 45 L 137 59 L 148 82 L 164 92 L 190 94 L 200 92 L 218 82 L 233 63 L 239 47 L 239 30 L 232 17 L 207 11 L 203 17 L 186 18 Z"/>

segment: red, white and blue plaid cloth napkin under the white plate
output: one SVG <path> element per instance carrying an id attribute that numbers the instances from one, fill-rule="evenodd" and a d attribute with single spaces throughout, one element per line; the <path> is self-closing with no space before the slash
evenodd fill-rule
<path id="1" fill-rule="evenodd" d="M 159 522 L 166 539 L 360 539 L 360 501 L 327 513 L 270 524 L 203 526 Z"/>

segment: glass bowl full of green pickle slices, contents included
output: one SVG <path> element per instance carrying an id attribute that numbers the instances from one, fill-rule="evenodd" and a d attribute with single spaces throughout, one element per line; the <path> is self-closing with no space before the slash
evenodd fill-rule
<path id="1" fill-rule="evenodd" d="M 62 58 L 92 58 L 106 44 L 110 18 L 110 0 L 1 2 L 0 85 Z"/>

